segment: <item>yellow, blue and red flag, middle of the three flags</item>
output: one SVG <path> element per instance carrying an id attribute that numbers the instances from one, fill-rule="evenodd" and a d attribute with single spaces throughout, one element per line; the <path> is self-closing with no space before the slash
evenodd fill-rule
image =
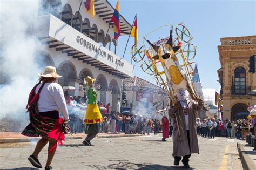
<path id="1" fill-rule="evenodd" d="M 113 28 L 114 39 L 117 39 L 121 35 L 119 0 L 117 1 L 116 9 L 114 9 L 111 22 L 114 23 L 114 28 Z"/>

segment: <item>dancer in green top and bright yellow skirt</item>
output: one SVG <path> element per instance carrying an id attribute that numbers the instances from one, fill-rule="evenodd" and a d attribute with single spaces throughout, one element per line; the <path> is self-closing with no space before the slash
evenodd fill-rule
<path id="1" fill-rule="evenodd" d="M 84 84 L 87 86 L 86 96 L 88 105 L 84 119 L 85 134 L 87 134 L 87 137 L 84 139 L 83 144 L 87 146 L 92 145 L 91 140 L 95 138 L 96 135 L 99 133 L 97 124 L 103 122 L 102 114 L 100 113 L 99 107 L 96 103 L 97 92 L 92 89 L 94 82 L 95 79 L 91 78 L 90 76 L 87 76 L 84 79 Z"/>

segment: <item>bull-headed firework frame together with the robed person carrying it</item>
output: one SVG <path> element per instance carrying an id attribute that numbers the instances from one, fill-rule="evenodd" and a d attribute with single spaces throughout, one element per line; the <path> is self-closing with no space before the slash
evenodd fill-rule
<path id="1" fill-rule="evenodd" d="M 196 47 L 190 43 L 192 36 L 184 23 L 178 24 L 175 31 L 177 38 L 173 38 L 171 26 L 170 37 L 159 43 L 151 43 L 144 36 L 150 49 L 146 49 L 145 43 L 138 49 L 138 45 L 134 45 L 132 58 L 142 62 L 140 67 L 144 72 L 154 76 L 157 84 L 166 90 L 170 107 L 166 109 L 169 114 L 164 114 L 173 122 L 174 165 L 178 166 L 183 157 L 184 166 L 189 167 L 188 158 L 192 153 L 199 153 L 196 114 L 203 107 L 203 101 L 197 96 L 191 78 L 192 59 L 196 55 Z"/>

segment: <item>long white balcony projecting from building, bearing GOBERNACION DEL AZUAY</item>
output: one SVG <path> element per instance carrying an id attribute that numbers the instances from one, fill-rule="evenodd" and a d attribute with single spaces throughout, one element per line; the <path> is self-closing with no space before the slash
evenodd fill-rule
<path id="1" fill-rule="evenodd" d="M 53 15 L 37 17 L 32 35 L 66 59 L 76 59 L 118 78 L 133 77 L 134 65 Z"/>

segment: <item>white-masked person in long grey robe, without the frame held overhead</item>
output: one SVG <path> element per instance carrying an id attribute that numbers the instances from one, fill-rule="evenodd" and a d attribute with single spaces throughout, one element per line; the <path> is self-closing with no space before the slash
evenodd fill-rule
<path id="1" fill-rule="evenodd" d="M 203 100 L 198 96 L 196 97 L 197 101 L 188 99 L 184 89 L 177 91 L 177 98 L 176 103 L 169 111 L 169 115 L 173 121 L 172 156 L 174 157 L 174 165 L 178 166 L 181 157 L 183 157 L 182 162 L 184 166 L 190 167 L 188 161 L 191 154 L 199 154 L 196 111 L 199 111 L 203 107 Z"/>

